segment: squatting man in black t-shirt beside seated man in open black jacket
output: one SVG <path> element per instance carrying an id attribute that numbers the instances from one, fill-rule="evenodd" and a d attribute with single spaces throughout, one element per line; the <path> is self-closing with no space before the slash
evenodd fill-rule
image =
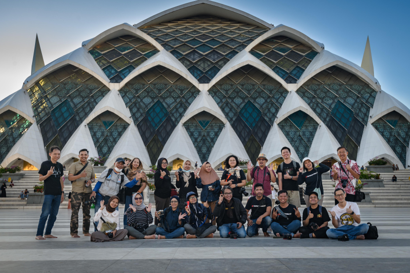
<path id="1" fill-rule="evenodd" d="M 256 196 L 250 197 L 245 206 L 246 215 L 249 215 L 249 210 L 251 210 L 250 217 L 246 219 L 246 234 L 249 237 L 258 235 L 258 228 L 262 228 L 263 235 L 269 237 L 268 228 L 272 223 L 272 218 L 270 217 L 272 200 L 263 195 L 263 184 L 256 183 L 254 191 Z"/>

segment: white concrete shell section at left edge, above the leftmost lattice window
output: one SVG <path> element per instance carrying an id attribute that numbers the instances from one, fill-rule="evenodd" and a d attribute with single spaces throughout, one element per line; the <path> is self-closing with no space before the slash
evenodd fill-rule
<path id="1" fill-rule="evenodd" d="M 0 101 L 0 114 L 4 113 L 7 110 L 11 110 L 25 117 L 31 123 L 34 123 L 36 121 L 33 118 L 34 112 L 33 108 L 31 107 L 29 94 L 27 94 L 26 90 L 24 89 L 20 89 Z"/>

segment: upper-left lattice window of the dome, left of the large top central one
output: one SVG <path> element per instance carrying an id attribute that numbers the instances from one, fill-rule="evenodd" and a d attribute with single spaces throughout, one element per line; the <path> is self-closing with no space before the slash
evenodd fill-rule
<path id="1" fill-rule="evenodd" d="M 121 82 L 134 69 L 159 51 L 143 39 L 124 35 L 103 42 L 88 52 L 110 82 Z"/>

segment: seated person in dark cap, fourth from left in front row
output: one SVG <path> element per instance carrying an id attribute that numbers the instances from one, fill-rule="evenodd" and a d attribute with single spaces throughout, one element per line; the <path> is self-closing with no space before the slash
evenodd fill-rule
<path id="1" fill-rule="evenodd" d="M 212 223 L 205 223 L 206 219 L 212 219 L 212 212 L 208 202 L 199 203 L 198 194 L 194 192 L 189 192 L 186 197 L 189 202 L 189 205 L 185 208 L 188 215 L 185 218 L 186 224 L 184 225 L 187 239 L 213 238 L 216 226 L 212 226 Z"/>

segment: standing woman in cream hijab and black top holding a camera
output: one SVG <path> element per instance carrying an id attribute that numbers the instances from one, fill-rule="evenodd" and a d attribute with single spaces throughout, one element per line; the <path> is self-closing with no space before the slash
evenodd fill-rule
<path id="1" fill-rule="evenodd" d="M 185 208 L 187 201 L 186 195 L 189 192 L 194 192 L 198 195 L 197 181 L 195 180 L 194 172 L 191 172 L 191 161 L 185 160 L 182 164 L 182 171 L 175 172 L 176 183 L 175 186 L 179 189 L 179 205 L 180 209 Z"/>

